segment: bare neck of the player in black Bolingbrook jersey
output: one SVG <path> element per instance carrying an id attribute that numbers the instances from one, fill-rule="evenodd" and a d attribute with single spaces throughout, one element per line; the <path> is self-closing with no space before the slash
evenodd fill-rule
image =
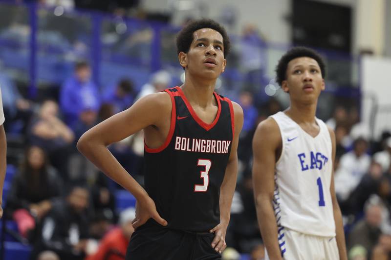
<path id="1" fill-rule="evenodd" d="M 215 84 L 216 80 L 195 80 L 186 75 L 185 83 L 183 83 L 181 89 L 189 102 L 195 102 L 201 107 L 207 107 L 215 102 L 213 97 Z"/>

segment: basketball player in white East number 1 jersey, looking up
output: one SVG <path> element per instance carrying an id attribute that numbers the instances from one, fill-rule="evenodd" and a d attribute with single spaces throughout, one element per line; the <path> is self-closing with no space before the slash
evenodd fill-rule
<path id="1" fill-rule="evenodd" d="M 253 140 L 258 221 L 271 260 L 347 260 L 334 192 L 333 130 L 315 117 L 325 63 L 294 47 L 277 65 L 290 107 L 262 121 Z"/>

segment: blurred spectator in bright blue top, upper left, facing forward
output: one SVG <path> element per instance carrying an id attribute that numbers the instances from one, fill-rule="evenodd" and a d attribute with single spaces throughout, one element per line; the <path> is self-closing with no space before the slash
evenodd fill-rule
<path id="1" fill-rule="evenodd" d="M 87 108 L 99 110 L 101 98 L 97 86 L 91 80 L 91 68 L 86 61 L 77 62 L 75 74 L 63 84 L 60 105 L 66 123 L 72 128 Z"/>

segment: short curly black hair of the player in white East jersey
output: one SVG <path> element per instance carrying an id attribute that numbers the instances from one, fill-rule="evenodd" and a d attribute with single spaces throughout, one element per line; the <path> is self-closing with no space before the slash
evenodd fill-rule
<path id="1" fill-rule="evenodd" d="M 289 51 L 287 51 L 278 61 L 276 67 L 276 82 L 280 86 L 282 84 L 282 81 L 286 80 L 286 69 L 288 68 L 289 61 L 300 57 L 309 57 L 311 59 L 316 60 L 319 64 L 319 67 L 321 68 L 322 78 L 326 78 L 326 64 L 319 53 L 317 53 L 313 49 L 306 47 L 293 47 Z"/>

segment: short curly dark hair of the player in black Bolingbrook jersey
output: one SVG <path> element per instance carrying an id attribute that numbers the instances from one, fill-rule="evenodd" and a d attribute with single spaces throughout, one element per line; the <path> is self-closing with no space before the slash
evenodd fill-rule
<path id="1" fill-rule="evenodd" d="M 202 28 L 211 28 L 221 34 L 223 37 L 224 57 L 227 57 L 231 43 L 227 31 L 217 21 L 211 19 L 191 20 L 189 21 L 176 36 L 176 49 L 177 53 L 187 53 L 190 49 L 190 45 L 193 42 L 193 33 L 196 30 Z"/>

